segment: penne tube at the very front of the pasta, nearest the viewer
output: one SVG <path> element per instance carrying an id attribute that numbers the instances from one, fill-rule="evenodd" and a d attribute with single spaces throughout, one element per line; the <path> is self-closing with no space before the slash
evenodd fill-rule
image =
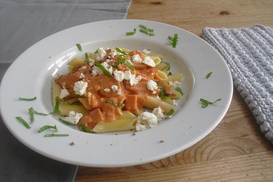
<path id="1" fill-rule="evenodd" d="M 120 131 L 134 129 L 135 115 L 129 111 L 122 111 L 123 115 L 119 116 L 115 121 L 105 121 L 98 123 L 93 131 L 96 133 Z"/>

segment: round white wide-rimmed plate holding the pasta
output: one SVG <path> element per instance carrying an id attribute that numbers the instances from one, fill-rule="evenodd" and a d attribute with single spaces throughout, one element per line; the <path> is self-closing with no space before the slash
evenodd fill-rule
<path id="1" fill-rule="evenodd" d="M 154 36 L 139 32 L 139 24 L 154 29 Z M 137 28 L 137 33 L 126 36 Z M 167 37 L 178 34 L 173 48 Z M 22 35 L 23 36 L 23 35 Z M 82 45 L 82 52 L 76 44 Z M 171 72 L 183 73 L 178 109 L 171 119 L 157 127 L 132 135 L 132 132 L 106 134 L 83 133 L 58 121 L 58 114 L 34 115 L 31 129 L 15 117 L 28 123 L 28 108 L 50 113 L 51 80 L 56 72 L 67 73 L 67 61 L 75 56 L 95 51 L 98 47 L 150 49 L 164 55 Z M 213 72 L 210 78 L 206 75 Z M 11 133 L 32 150 L 49 158 L 81 166 L 120 167 L 152 162 L 180 152 L 210 133 L 224 117 L 232 97 L 233 84 L 228 66 L 221 55 L 207 42 L 181 28 L 145 20 L 107 20 L 75 26 L 53 34 L 34 44 L 20 55 L 5 73 L 0 87 L 1 116 Z M 20 101 L 18 97 L 35 101 Z M 201 107 L 200 98 L 214 102 Z M 184 106 L 182 108 L 182 106 Z M 59 134 L 69 137 L 44 137 L 44 125 L 56 125 Z M 55 132 L 54 132 L 55 133 Z M 118 134 L 118 135 L 115 135 Z M 160 142 L 165 140 L 165 142 Z M 70 143 L 75 145 L 71 146 Z"/>

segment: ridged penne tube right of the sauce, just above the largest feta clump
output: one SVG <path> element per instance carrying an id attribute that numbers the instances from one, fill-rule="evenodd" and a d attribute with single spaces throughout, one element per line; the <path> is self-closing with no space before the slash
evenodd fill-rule
<path id="1" fill-rule="evenodd" d="M 172 106 L 171 104 L 168 104 L 166 102 L 163 102 L 162 100 L 158 100 L 156 98 L 153 98 L 151 96 L 148 96 L 148 99 L 145 101 L 146 107 L 150 109 L 154 109 L 156 107 L 161 107 L 164 110 L 164 114 L 167 114 L 171 109 L 175 111 L 175 106 Z"/>

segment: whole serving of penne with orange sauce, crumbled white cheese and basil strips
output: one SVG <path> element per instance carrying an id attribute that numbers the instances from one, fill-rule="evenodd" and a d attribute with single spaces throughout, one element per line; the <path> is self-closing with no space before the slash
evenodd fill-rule
<path id="1" fill-rule="evenodd" d="M 163 58 L 146 49 L 140 52 L 118 47 L 75 57 L 67 63 L 69 73 L 52 81 L 53 104 L 57 98 L 58 113 L 66 116 L 64 121 L 78 124 L 82 131 L 154 127 L 164 115 L 172 116 L 175 99 L 182 95 L 178 85 L 183 75 L 171 75 Z"/>

